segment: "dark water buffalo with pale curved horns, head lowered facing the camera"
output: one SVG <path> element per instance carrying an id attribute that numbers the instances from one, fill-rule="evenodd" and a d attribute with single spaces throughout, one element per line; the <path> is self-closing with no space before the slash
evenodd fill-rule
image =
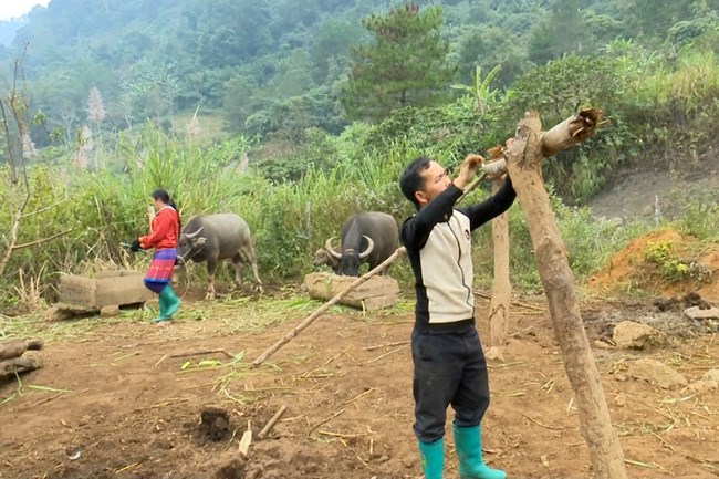
<path id="1" fill-rule="evenodd" d="M 358 212 L 342 226 L 340 251 L 332 247 L 330 238 L 324 249 L 336 261 L 335 272 L 345 277 L 359 275 L 359 265 L 369 263 L 374 269 L 397 249 L 399 231 L 392 215 L 378 211 Z M 315 262 L 317 261 L 315 254 Z M 327 264 L 333 265 L 330 260 Z M 334 268 L 333 268 L 334 269 Z M 387 274 L 387 270 L 384 271 Z"/>

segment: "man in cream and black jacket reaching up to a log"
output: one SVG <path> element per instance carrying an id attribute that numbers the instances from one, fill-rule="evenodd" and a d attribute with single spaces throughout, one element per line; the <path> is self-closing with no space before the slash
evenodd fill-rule
<path id="1" fill-rule="evenodd" d="M 447 407 L 452 423 L 460 479 L 504 479 L 484 465 L 480 424 L 489 406 L 487 363 L 475 329 L 471 232 L 514 201 L 511 180 L 477 205 L 455 208 L 462 189 L 482 166 L 469 155 L 452 181 L 437 162 L 420 157 L 399 179 L 417 208 L 400 229 L 415 273 L 417 304 L 411 334 L 414 430 L 426 479 L 441 479 Z"/>

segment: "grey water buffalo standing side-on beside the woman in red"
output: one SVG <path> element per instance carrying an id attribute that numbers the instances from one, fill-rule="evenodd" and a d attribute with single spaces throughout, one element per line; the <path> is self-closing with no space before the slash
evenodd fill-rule
<path id="1" fill-rule="evenodd" d="M 217 262 L 223 259 L 232 260 L 237 285 L 241 283 L 242 262 L 249 263 L 256 289 L 262 291 L 250 227 L 235 214 L 200 215 L 191 218 L 180 233 L 178 256 L 183 261 L 207 261 L 207 299 L 215 299 L 215 270 Z"/>

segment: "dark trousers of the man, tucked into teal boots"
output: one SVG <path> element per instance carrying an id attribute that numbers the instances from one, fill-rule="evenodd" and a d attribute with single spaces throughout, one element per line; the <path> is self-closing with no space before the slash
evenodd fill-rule
<path id="1" fill-rule="evenodd" d="M 415 330 L 415 435 L 423 442 L 445 436 L 447 406 L 458 427 L 479 426 L 489 406 L 487 362 L 475 326 L 460 333 Z"/>

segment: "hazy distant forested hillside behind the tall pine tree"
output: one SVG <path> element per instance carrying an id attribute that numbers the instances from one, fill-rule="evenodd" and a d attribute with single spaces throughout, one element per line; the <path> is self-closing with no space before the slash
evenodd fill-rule
<path id="1" fill-rule="evenodd" d="M 501 65 L 499 88 L 553 58 L 606 51 L 615 39 L 680 48 L 710 30 L 719 9 L 719 0 L 439 3 L 457 80 L 470 83 L 475 65 Z M 361 20 L 387 8 L 381 0 L 52 0 L 29 14 L 13 46 L 29 44 L 29 87 L 46 132 L 82 126 L 97 87 L 115 131 L 200 106 L 218 111 L 233 133 L 319 126 L 336 134 L 348 123 L 338 92 L 350 52 L 368 38 Z M 280 119 L 288 112 L 302 124 Z M 34 132 L 33 140 L 42 146 L 49 136 Z"/>

